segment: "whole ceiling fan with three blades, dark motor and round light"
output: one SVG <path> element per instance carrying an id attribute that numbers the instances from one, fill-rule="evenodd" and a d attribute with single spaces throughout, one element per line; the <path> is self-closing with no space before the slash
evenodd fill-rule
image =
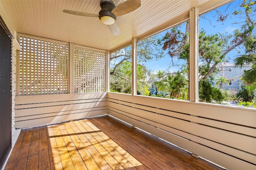
<path id="1" fill-rule="evenodd" d="M 120 35 L 120 30 L 115 24 L 116 17 L 128 14 L 140 7 L 140 0 L 126 0 L 118 6 L 116 6 L 114 0 L 100 0 L 101 10 L 99 14 L 90 14 L 86 12 L 79 12 L 73 10 L 63 10 L 62 12 L 88 17 L 99 17 L 103 24 L 108 25 L 110 32 L 114 36 Z"/>

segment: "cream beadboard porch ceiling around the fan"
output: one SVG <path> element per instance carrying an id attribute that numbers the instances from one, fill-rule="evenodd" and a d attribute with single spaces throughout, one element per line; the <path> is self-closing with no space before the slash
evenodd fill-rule
<path id="1" fill-rule="evenodd" d="M 98 18 L 62 12 L 98 14 L 100 0 L 0 1 L 16 32 L 112 51 L 128 45 L 132 38 L 141 40 L 186 20 L 195 6 L 202 14 L 230 0 L 141 0 L 140 8 L 117 18 L 120 36 L 113 36 Z M 115 0 L 116 6 L 124 1 Z"/>

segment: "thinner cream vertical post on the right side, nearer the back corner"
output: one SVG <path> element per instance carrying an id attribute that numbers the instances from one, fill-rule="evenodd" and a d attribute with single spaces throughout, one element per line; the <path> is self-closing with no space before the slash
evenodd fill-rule
<path id="1" fill-rule="evenodd" d="M 132 38 L 132 95 L 137 95 L 137 38 Z"/>

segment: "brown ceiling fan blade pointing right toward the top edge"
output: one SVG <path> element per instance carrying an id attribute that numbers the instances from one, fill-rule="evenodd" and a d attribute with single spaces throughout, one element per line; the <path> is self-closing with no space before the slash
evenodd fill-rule
<path id="1" fill-rule="evenodd" d="M 128 14 L 140 7 L 140 0 L 126 0 L 125 2 L 119 4 L 114 8 L 111 13 L 114 14 L 116 17 Z"/>

